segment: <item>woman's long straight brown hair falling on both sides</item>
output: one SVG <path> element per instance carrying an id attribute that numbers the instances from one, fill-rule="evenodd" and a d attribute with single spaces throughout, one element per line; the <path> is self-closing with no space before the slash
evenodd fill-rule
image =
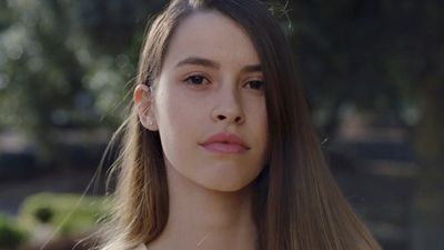
<path id="1" fill-rule="evenodd" d="M 356 218 L 324 161 L 292 51 L 279 21 L 256 0 L 174 0 L 147 30 L 137 83 L 154 86 L 169 41 L 183 19 L 214 10 L 251 38 L 261 60 L 269 119 L 270 161 L 254 182 L 253 214 L 263 250 L 380 249 Z M 102 249 L 133 249 L 162 233 L 168 220 L 167 173 L 159 133 L 133 108 L 119 129 L 113 212 Z"/>

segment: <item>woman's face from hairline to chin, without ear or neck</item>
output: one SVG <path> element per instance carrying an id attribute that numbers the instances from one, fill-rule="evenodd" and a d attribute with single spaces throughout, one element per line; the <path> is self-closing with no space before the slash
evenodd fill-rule
<path id="1" fill-rule="evenodd" d="M 250 38 L 219 12 L 178 27 L 152 103 L 169 174 L 219 191 L 259 176 L 268 156 L 260 64 Z"/>

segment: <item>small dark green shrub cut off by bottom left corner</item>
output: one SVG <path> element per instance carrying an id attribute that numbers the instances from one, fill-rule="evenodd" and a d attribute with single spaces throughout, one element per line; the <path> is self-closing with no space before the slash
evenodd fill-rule
<path id="1" fill-rule="evenodd" d="M 0 214 L 0 249 L 14 249 L 27 240 L 27 232 L 17 221 Z"/>

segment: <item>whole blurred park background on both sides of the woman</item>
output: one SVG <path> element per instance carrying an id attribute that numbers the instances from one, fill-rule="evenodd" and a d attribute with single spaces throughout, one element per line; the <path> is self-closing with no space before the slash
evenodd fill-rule
<path id="1" fill-rule="evenodd" d="M 0 249 L 72 249 L 97 229 L 112 153 L 90 181 L 165 2 L 0 0 Z M 356 212 L 386 250 L 444 249 L 444 1 L 271 8 Z"/>

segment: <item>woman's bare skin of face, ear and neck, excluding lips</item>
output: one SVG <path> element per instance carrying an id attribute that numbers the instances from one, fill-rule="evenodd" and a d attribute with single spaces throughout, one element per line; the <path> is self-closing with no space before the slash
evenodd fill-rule
<path id="1" fill-rule="evenodd" d="M 262 78 L 244 31 L 205 11 L 176 29 L 154 89 L 137 87 L 140 120 L 161 137 L 170 192 L 167 228 L 150 250 L 255 248 L 251 183 L 268 156 Z M 236 134 L 249 149 L 201 146 L 220 132 Z"/>

